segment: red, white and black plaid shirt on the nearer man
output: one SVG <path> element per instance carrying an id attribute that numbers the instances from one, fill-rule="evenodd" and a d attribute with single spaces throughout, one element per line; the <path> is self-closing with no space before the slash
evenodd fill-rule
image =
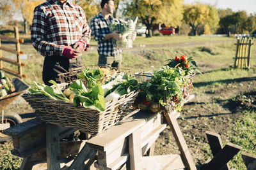
<path id="1" fill-rule="evenodd" d="M 74 45 L 79 40 L 87 50 L 90 35 L 83 9 L 69 0 L 64 4 L 47 0 L 34 10 L 31 43 L 44 57 L 61 55 L 65 45 Z"/>

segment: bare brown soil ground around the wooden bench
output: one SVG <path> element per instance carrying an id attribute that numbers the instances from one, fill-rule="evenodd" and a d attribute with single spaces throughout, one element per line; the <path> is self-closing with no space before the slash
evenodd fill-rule
<path id="1" fill-rule="evenodd" d="M 216 67 L 208 66 L 201 70 L 204 72 L 212 69 L 216 69 Z M 196 89 L 204 86 L 204 82 L 193 83 L 193 85 L 195 89 L 191 93 L 196 93 Z M 204 89 L 204 92 L 198 93 L 189 103 L 184 104 L 178 123 L 197 165 L 204 164 L 206 161 L 205 131 L 216 132 L 221 135 L 223 141 L 227 141 L 228 132 L 231 131 L 233 123 L 239 117 L 243 117 L 240 110 L 243 110 L 244 107 L 256 108 L 256 99 L 255 96 L 252 96 L 253 93 L 256 93 L 256 74 L 250 78 L 228 80 L 228 83 L 220 87 Z M 232 100 L 234 97 L 236 100 Z M 248 102 L 248 100 L 253 102 Z M 4 111 L 19 113 L 24 121 L 35 116 L 33 109 L 22 97 L 18 97 Z M 179 149 L 170 128 L 166 128 L 156 141 L 155 155 L 170 153 L 179 153 Z"/>

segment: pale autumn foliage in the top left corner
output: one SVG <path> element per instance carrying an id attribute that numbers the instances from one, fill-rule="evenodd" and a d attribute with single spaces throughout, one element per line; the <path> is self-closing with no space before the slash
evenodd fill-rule
<path id="1" fill-rule="evenodd" d="M 13 9 L 12 3 L 6 0 L 0 0 L 0 20 L 5 23 L 9 20 L 12 20 L 13 17 Z"/>

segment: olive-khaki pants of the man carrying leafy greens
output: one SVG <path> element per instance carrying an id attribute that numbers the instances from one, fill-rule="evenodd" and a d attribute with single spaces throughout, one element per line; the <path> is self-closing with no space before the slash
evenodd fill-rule
<path id="1" fill-rule="evenodd" d="M 122 67 L 122 53 L 114 56 L 99 55 L 98 66 Z"/>

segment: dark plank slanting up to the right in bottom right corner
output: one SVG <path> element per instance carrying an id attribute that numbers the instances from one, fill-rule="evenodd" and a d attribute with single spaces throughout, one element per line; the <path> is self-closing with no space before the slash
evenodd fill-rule
<path id="1" fill-rule="evenodd" d="M 225 145 L 224 148 L 213 157 L 213 159 L 203 168 L 203 170 L 221 169 L 241 149 L 241 146 L 227 143 L 227 145 Z"/>

